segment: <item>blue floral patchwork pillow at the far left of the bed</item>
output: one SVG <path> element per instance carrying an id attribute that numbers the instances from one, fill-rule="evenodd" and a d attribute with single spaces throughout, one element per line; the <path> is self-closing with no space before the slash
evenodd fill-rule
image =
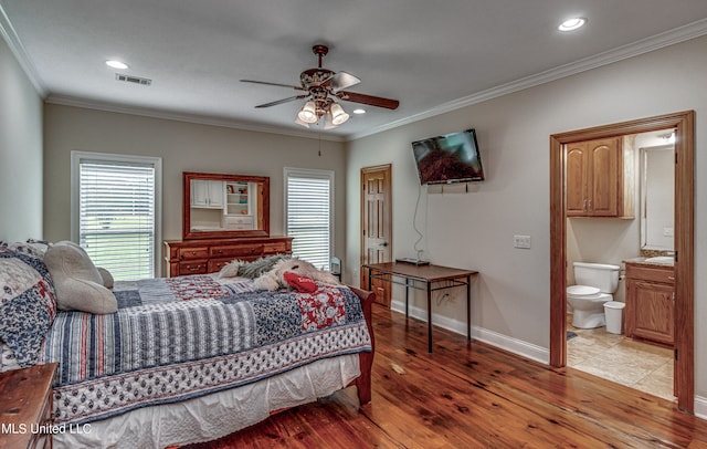
<path id="1" fill-rule="evenodd" d="M 56 295 L 42 259 L 0 246 L 0 341 L 20 366 L 34 365 L 55 314 Z"/>

